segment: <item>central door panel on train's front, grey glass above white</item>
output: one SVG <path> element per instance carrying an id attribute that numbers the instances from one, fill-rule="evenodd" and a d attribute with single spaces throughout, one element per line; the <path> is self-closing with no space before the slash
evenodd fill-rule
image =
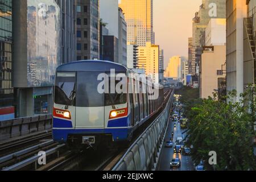
<path id="1" fill-rule="evenodd" d="M 77 72 L 76 129 L 104 129 L 104 93 L 98 92 L 100 72 Z"/>

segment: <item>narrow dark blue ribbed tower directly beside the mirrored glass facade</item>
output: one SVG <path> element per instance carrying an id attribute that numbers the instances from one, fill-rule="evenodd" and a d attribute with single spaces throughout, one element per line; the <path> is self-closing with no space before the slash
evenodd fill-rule
<path id="1" fill-rule="evenodd" d="M 76 1 L 59 0 L 61 9 L 61 63 L 76 60 Z"/>

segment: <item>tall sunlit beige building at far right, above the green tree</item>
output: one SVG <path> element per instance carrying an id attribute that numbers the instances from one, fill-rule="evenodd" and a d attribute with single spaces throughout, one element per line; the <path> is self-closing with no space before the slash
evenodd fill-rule
<path id="1" fill-rule="evenodd" d="M 255 0 L 226 1 L 226 86 L 243 93 L 255 83 Z"/>

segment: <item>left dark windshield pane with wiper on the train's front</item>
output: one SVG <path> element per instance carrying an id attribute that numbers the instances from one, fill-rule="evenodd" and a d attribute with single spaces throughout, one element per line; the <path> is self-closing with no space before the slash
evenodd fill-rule
<path id="1" fill-rule="evenodd" d="M 55 103 L 60 105 L 76 105 L 76 73 L 58 72 L 55 85 Z"/>

